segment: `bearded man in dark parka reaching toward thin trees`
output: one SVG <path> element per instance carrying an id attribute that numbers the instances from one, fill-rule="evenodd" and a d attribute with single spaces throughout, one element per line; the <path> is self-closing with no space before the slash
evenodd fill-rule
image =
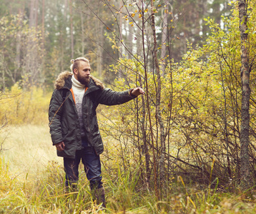
<path id="1" fill-rule="evenodd" d="M 117 92 L 104 88 L 101 81 L 90 75 L 87 58 L 72 60 L 71 72 L 59 74 L 49 105 L 51 140 L 57 155 L 64 158 L 66 186 L 74 187 L 79 179 L 82 160 L 90 188 L 98 203 L 105 206 L 99 154 L 104 150 L 97 123 L 96 108 L 131 101 L 142 88 Z"/>

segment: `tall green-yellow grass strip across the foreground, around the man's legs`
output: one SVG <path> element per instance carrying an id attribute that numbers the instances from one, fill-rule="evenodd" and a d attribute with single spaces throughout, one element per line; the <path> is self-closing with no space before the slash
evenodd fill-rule
<path id="1" fill-rule="evenodd" d="M 224 193 L 215 188 L 184 183 L 179 177 L 157 200 L 149 186 L 139 186 L 138 171 L 104 173 L 107 209 L 92 200 L 88 181 L 81 174 L 79 188 L 64 187 L 64 170 L 49 162 L 36 178 L 19 180 L 11 175 L 8 164 L 0 158 L 0 213 L 255 213 L 255 195 Z M 83 182 L 82 182 L 83 181 Z"/>

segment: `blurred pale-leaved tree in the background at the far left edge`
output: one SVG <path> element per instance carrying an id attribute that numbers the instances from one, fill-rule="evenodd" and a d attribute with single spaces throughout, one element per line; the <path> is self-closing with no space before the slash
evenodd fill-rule
<path id="1" fill-rule="evenodd" d="M 42 52 L 41 31 L 29 27 L 20 15 L 4 16 L 0 19 L 0 26 L 2 48 L 0 71 L 3 84 L 1 90 L 5 87 L 11 88 L 17 81 L 21 81 L 22 86 L 38 83 L 36 74 L 39 73 L 41 64 L 41 56 L 39 56 L 39 52 Z M 30 64 L 33 58 L 35 58 L 34 63 Z"/>

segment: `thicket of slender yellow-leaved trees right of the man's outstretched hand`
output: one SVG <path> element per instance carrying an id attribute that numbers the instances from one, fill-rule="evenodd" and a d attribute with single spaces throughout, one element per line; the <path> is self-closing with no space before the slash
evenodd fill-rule
<path id="1" fill-rule="evenodd" d="M 138 28 L 142 30 L 143 52 L 137 52 L 141 53 L 139 57 L 134 55 L 129 59 L 120 58 L 119 63 L 112 66 L 114 72 L 124 71 L 122 78 L 117 79 L 114 86 L 120 89 L 126 88 L 126 85 L 132 88 L 142 86 L 147 90 L 148 97 L 146 96 L 146 100 L 142 98 L 141 102 L 133 103 L 134 106 L 132 102 L 127 103 L 126 106 L 120 107 L 118 113 L 114 112 L 114 116 L 118 115 L 120 117 L 118 120 L 122 122 L 111 123 L 112 130 L 115 130 L 113 133 L 106 131 L 108 130 L 107 122 L 102 126 L 107 136 L 113 136 L 120 141 L 120 145 L 127 145 L 122 141 L 124 136 L 125 141 L 130 139 L 129 143 L 134 146 L 134 151 L 132 151 L 135 157 L 134 162 L 142 168 L 141 178 L 148 178 L 147 182 L 144 180 L 141 182 L 155 188 L 154 178 L 157 178 L 156 194 L 160 193 L 162 183 L 159 178 L 163 177 L 166 181 L 182 175 L 187 180 L 197 180 L 207 185 L 209 183 L 216 185 L 218 182 L 220 186 L 233 185 L 240 180 L 239 141 L 242 98 L 240 22 L 237 4 L 232 4 L 232 6 L 232 16 L 222 16 L 220 21 L 222 25 L 216 23 L 215 19 L 205 19 L 210 32 L 205 45 L 193 49 L 191 43 L 187 44 L 187 54 L 179 63 L 173 63 L 170 58 L 167 58 L 164 76 L 158 78 L 157 62 L 160 64 L 162 61 L 162 57 L 159 57 L 161 44 L 159 45 L 159 40 L 154 40 L 156 38 L 153 33 L 154 21 L 148 19 L 150 16 L 147 16 L 147 4 L 144 4 L 144 7 L 140 8 L 144 11 L 139 15 L 141 22 L 137 22 Z M 131 16 L 127 14 L 127 16 L 124 14 L 122 16 L 132 22 L 133 16 L 136 16 L 132 12 L 136 9 L 129 8 L 128 11 Z M 252 17 L 248 26 L 250 31 L 254 32 L 256 29 L 253 18 L 256 11 L 253 4 L 250 5 L 248 11 Z M 154 17 L 157 20 L 157 15 Z M 150 21 L 148 23 L 144 20 Z M 142 28 L 143 24 L 145 26 Z M 149 26 L 152 26 L 152 31 Z M 157 27 L 157 24 L 155 26 Z M 169 27 L 172 26 L 168 26 L 167 29 Z M 158 31 L 158 34 L 161 32 Z M 139 35 L 138 32 L 137 35 Z M 250 51 L 247 54 L 251 60 L 250 68 L 255 69 L 253 61 L 256 53 L 256 34 L 249 35 Z M 152 39 L 147 40 L 148 38 Z M 126 41 L 123 42 L 125 44 Z M 167 49 L 167 51 L 170 50 Z M 154 59 L 153 63 L 151 63 L 152 59 Z M 254 73 L 251 78 L 255 80 Z M 255 81 L 252 81 L 252 87 L 255 88 Z M 251 142 L 248 146 L 248 155 L 252 160 L 250 173 L 255 173 L 253 170 L 255 161 L 253 160 L 255 160 L 256 142 L 254 131 L 256 128 L 256 94 L 255 91 L 252 93 L 250 97 L 252 116 L 249 126 Z M 164 141 L 160 138 L 161 127 L 157 113 L 160 113 L 164 122 Z M 123 149 L 130 148 L 124 146 Z M 132 165 L 128 155 L 127 157 L 122 155 L 122 158 L 124 168 Z M 167 185 L 164 187 L 168 190 Z"/>

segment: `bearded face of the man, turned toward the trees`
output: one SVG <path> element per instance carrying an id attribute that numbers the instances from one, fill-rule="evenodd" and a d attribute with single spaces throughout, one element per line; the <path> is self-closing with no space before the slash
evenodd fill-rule
<path id="1" fill-rule="evenodd" d="M 91 66 L 86 61 L 79 61 L 78 70 L 74 69 L 74 77 L 77 78 L 77 80 L 85 86 L 87 86 L 90 82 L 90 73 Z"/>

